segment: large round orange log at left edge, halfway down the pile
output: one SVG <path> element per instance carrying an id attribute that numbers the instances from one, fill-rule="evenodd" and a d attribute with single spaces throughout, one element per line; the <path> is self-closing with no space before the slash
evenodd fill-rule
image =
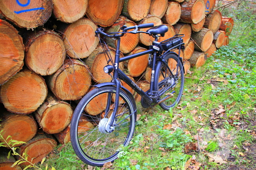
<path id="1" fill-rule="evenodd" d="M 46 96 L 45 80 L 33 71 L 19 72 L 1 87 L 4 107 L 17 114 L 34 112 Z"/>

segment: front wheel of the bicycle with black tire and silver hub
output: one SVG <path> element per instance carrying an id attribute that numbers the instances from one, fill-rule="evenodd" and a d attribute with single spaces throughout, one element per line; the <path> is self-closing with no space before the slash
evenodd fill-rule
<path id="1" fill-rule="evenodd" d="M 120 104 L 116 105 L 113 102 L 115 94 L 114 86 L 95 88 L 82 98 L 74 111 L 70 130 L 72 147 L 76 155 L 88 165 L 103 166 L 104 163 L 113 162 L 118 157 L 118 148 L 122 145 L 127 146 L 133 136 L 136 106 L 129 95 L 121 89 Z M 111 107 L 106 111 L 104 107 L 108 103 Z M 112 114 L 111 110 L 114 106 L 118 106 L 115 122 L 117 126 L 114 127 L 113 132 L 108 133 L 104 129 L 105 123 Z M 97 115 L 90 115 L 92 110 L 100 112 Z M 92 127 L 82 127 L 84 116 L 92 122 Z"/>

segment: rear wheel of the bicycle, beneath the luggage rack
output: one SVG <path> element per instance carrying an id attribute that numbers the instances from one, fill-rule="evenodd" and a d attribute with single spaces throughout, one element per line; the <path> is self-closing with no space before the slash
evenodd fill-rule
<path id="1" fill-rule="evenodd" d="M 166 96 L 166 94 L 173 93 L 173 97 L 159 104 L 159 106 L 164 110 L 169 110 L 171 107 L 174 107 L 178 102 L 180 102 L 184 88 L 184 70 L 181 60 L 178 62 L 179 59 L 176 53 L 170 52 L 166 54 L 164 56 L 164 60 L 166 63 L 168 63 L 173 75 L 167 69 L 166 64 L 160 60 L 156 68 L 155 75 L 157 76 L 157 80 L 155 80 L 155 87 L 159 94 L 161 94 L 167 88 L 172 86 L 174 82 L 176 82 L 173 87 L 170 87 L 169 90 L 158 98 L 158 100 L 161 100 Z M 178 63 L 178 74 L 176 75 Z"/>

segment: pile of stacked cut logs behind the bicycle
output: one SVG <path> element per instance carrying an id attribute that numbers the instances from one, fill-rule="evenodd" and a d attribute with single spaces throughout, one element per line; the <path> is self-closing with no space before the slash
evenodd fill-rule
<path id="1" fill-rule="evenodd" d="M 27 142 L 20 146 L 20 153 L 27 148 L 30 157 L 36 158 L 33 163 L 40 162 L 40 153 L 48 154 L 57 142 L 69 142 L 76 100 L 95 83 L 111 80 L 103 72 L 108 59 L 95 37 L 97 27 L 110 33 L 120 31 L 124 24 L 166 24 L 169 31 L 159 41 L 185 35 L 181 57 L 186 74 L 190 67 L 202 66 L 207 56 L 228 44 L 233 20 L 223 17 L 214 6 L 215 0 L 1 0 L 0 107 L 4 108 L 0 110 L 0 130 L 5 136 Z M 153 40 L 143 33 L 125 34 L 120 57 L 146 50 Z M 116 40 L 106 42 L 114 57 Z M 144 55 L 121 63 L 120 68 L 147 90 L 147 65 L 148 55 Z M 140 101 L 139 96 L 136 100 Z M 93 126 L 86 117 L 82 123 Z M 16 128 L 10 130 L 12 124 Z M 25 129 L 22 124 L 26 124 Z M 37 128 L 45 134 L 38 135 Z M 37 155 L 29 150 L 32 145 L 38 149 L 45 146 L 45 150 L 37 150 Z"/>

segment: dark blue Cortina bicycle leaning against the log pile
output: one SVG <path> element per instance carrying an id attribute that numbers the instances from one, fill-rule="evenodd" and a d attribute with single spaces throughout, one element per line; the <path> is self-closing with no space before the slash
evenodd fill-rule
<path id="1" fill-rule="evenodd" d="M 150 28 L 146 32 L 139 28 Z M 159 36 L 168 31 L 166 25 L 154 27 L 153 23 L 123 26 L 123 32 L 114 32 L 110 35 L 98 28 L 95 33 L 100 38 L 111 37 L 117 40 L 114 61 L 104 67 L 104 72 L 112 76 L 112 82 L 96 84 L 94 90 L 88 92 L 79 102 L 71 120 L 71 143 L 76 155 L 88 165 L 103 166 L 113 162 L 121 147 L 128 146 L 132 139 L 136 122 L 136 103 L 131 92 L 122 86 L 120 80 L 126 82 L 139 95 L 144 108 L 159 104 L 164 110 L 169 110 L 178 103 L 184 87 L 184 68 L 180 58 L 180 50 L 184 49 L 182 37 L 174 37 L 158 42 Z M 128 30 L 132 31 L 127 32 Z M 125 33 L 147 33 L 155 38 L 148 50 L 120 58 L 120 37 Z M 105 41 L 101 42 L 104 43 Z M 106 44 L 103 49 L 106 48 Z M 178 54 L 172 52 L 178 48 Z M 108 56 L 108 50 L 105 49 Z M 144 92 L 135 82 L 128 78 L 119 68 L 119 63 L 150 54 L 151 67 L 150 89 Z M 93 111 L 93 114 L 92 114 Z M 85 118 L 87 117 L 87 118 Z M 85 125 L 89 119 L 92 124 Z"/>

